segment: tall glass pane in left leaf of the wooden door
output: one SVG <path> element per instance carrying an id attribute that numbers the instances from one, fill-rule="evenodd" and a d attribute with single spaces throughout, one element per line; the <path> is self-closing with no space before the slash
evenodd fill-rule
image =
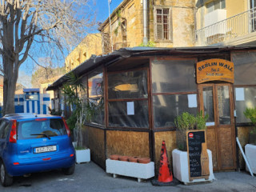
<path id="1" fill-rule="evenodd" d="M 214 98 L 213 98 L 213 87 L 207 86 L 202 89 L 203 95 L 203 107 L 205 115 L 208 114 L 206 126 L 214 126 Z"/>

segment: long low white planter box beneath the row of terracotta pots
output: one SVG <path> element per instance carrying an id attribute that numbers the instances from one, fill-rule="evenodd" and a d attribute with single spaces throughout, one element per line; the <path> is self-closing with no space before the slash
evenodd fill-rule
<path id="1" fill-rule="evenodd" d="M 106 159 L 106 173 L 114 174 L 114 178 L 117 174 L 138 178 L 138 182 L 141 182 L 141 179 L 154 177 L 154 162 L 143 164 Z"/>

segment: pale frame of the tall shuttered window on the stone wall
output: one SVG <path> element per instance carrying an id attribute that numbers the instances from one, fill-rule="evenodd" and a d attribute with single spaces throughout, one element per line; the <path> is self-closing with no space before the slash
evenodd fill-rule
<path id="1" fill-rule="evenodd" d="M 163 23 L 157 23 L 157 11 L 162 10 L 162 16 L 163 16 L 163 10 L 169 10 L 168 13 L 168 39 L 164 38 L 164 24 Z M 163 18 L 162 18 L 163 20 Z M 158 25 L 162 25 L 162 39 L 158 38 Z M 172 26 L 172 10 L 170 6 L 154 6 L 154 40 L 155 42 L 173 42 L 173 26 Z"/>

